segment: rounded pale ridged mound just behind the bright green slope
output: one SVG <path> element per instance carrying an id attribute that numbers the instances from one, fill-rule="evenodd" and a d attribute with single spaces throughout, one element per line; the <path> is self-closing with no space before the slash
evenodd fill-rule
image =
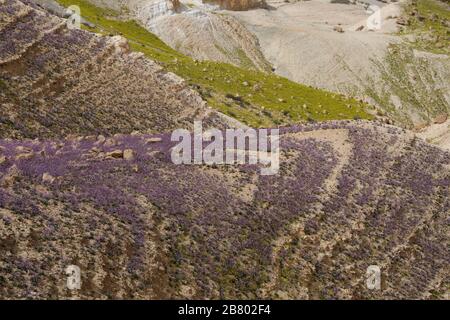
<path id="1" fill-rule="evenodd" d="M 193 58 L 270 70 L 257 38 L 234 17 L 196 10 L 147 21 L 148 28 L 165 43 Z"/>

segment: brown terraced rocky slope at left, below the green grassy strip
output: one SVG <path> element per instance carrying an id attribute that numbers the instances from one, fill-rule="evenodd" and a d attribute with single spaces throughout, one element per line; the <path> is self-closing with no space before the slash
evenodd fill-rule
<path id="1" fill-rule="evenodd" d="M 68 30 L 15 0 L 1 1 L 0 89 L 3 138 L 159 132 L 217 118 L 125 39 Z"/>

